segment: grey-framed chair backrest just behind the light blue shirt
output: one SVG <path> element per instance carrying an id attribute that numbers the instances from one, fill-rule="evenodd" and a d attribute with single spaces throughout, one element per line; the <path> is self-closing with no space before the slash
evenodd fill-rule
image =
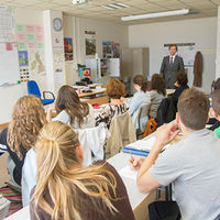
<path id="1" fill-rule="evenodd" d="M 150 106 L 151 103 L 144 103 L 139 108 L 136 120 L 138 120 L 138 125 L 139 125 L 140 131 L 143 131 L 145 129 L 146 123 L 148 121 Z"/>

